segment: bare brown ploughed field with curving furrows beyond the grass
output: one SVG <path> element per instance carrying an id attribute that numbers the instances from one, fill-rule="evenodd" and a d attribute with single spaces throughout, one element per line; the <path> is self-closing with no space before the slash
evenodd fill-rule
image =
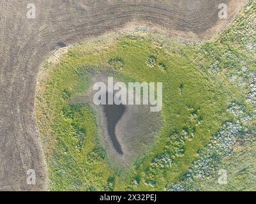
<path id="1" fill-rule="evenodd" d="M 27 19 L 27 4 L 36 19 Z M 218 4 L 229 5 L 218 20 Z M 131 22 L 181 40 L 208 40 L 234 18 L 245 0 L 2 0 L 0 2 L 0 190 L 43 190 L 46 170 L 34 119 L 41 62 L 59 42 L 71 45 Z M 36 185 L 26 172 L 36 171 Z"/>

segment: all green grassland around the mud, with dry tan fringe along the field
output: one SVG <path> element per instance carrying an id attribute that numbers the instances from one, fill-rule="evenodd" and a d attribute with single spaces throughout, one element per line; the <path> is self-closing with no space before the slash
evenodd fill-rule
<path id="1" fill-rule="evenodd" d="M 181 43 L 135 30 L 88 40 L 70 48 L 59 63 L 45 62 L 35 109 L 49 190 L 152 191 L 184 182 L 200 150 L 225 122 L 237 120 L 228 111 L 230 104 L 241 104 L 243 114 L 255 108 L 246 102 L 245 92 L 249 73 L 255 74 L 255 50 L 247 48 L 247 41 L 255 46 L 255 33 L 243 34 L 243 26 L 252 25 L 255 7 L 250 1 L 230 29 L 206 43 Z M 110 161 L 98 137 L 93 108 L 70 104 L 73 96 L 87 91 L 93 72 L 108 70 L 123 82 L 163 82 L 162 127 L 154 145 L 129 168 Z M 236 80 L 230 80 L 234 75 Z M 255 118 L 242 126 L 253 124 Z M 218 157 L 216 165 L 236 162 L 225 159 Z M 198 189 L 207 189 L 195 182 Z M 236 189 L 241 182 L 243 178 L 225 189 Z M 193 184 L 186 189 L 194 189 Z"/>

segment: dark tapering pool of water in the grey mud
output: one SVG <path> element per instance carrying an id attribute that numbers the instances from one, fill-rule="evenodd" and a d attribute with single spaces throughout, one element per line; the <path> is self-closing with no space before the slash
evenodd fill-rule
<path id="1" fill-rule="evenodd" d="M 108 94 L 107 94 L 107 101 L 108 101 Z M 125 107 L 124 105 L 104 105 L 104 112 L 107 117 L 107 129 L 109 131 L 110 138 L 114 145 L 114 148 L 119 154 L 123 154 L 121 149 L 121 145 L 117 141 L 116 138 L 116 124 L 119 119 L 121 119 L 124 113 Z"/>

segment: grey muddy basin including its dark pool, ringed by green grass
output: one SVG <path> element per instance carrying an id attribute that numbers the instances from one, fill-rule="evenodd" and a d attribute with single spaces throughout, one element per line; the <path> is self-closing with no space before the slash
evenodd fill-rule
<path id="1" fill-rule="evenodd" d="M 160 113 L 150 112 L 149 105 L 95 105 L 94 83 L 107 84 L 108 77 L 114 74 L 111 71 L 91 74 L 88 91 L 75 96 L 72 103 L 88 103 L 93 108 L 100 143 L 107 150 L 109 159 L 121 166 L 130 166 L 153 145 L 162 121 Z M 114 82 L 119 80 L 114 78 Z"/>

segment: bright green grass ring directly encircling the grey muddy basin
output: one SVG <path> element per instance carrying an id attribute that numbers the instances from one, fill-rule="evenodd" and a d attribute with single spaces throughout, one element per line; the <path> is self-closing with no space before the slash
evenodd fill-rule
<path id="1" fill-rule="evenodd" d="M 109 161 L 91 107 L 70 104 L 72 96 L 87 90 L 90 71 L 99 68 L 114 69 L 123 82 L 163 82 L 161 131 L 155 145 L 128 169 Z M 98 53 L 74 47 L 47 70 L 50 77 L 41 82 L 36 110 L 38 121 L 50 117 L 39 122 L 39 129 L 45 122 L 50 127 L 50 137 L 44 131 L 40 135 L 45 137 L 44 147 L 52 148 L 47 155 L 52 190 L 164 189 L 188 170 L 197 150 L 226 119 L 223 106 L 230 98 L 229 87 L 217 89 L 186 57 L 155 47 L 146 38 L 124 36 Z"/>

